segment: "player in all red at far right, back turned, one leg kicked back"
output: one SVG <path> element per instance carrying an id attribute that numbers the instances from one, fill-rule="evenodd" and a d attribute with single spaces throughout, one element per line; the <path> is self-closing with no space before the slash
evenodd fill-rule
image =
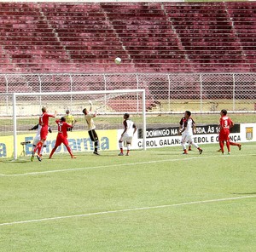
<path id="1" fill-rule="evenodd" d="M 221 152 L 224 154 L 224 142 L 226 142 L 226 146 L 228 148 L 228 154 L 230 154 L 230 145 L 231 146 L 238 146 L 239 150 L 241 150 L 241 144 L 230 142 L 230 128 L 234 126 L 234 123 L 227 116 L 227 111 L 223 109 L 220 112 L 220 119 L 219 119 L 219 134 L 218 134 L 218 142 L 220 146 Z"/>

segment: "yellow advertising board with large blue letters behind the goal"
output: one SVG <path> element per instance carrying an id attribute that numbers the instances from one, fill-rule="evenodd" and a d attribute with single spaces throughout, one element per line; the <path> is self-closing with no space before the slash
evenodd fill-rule
<path id="1" fill-rule="evenodd" d="M 118 141 L 118 130 L 109 129 L 109 130 L 96 130 L 96 133 L 99 137 L 99 151 L 105 150 L 117 150 L 117 141 Z M 32 142 L 35 136 L 33 134 L 27 135 L 18 135 L 18 156 L 23 155 L 23 148 L 26 155 L 29 155 L 32 152 Z M 49 133 L 46 140 L 46 154 L 49 154 L 52 148 L 55 146 L 55 139 L 57 133 Z M 30 142 L 26 145 L 21 145 L 22 142 Z M 86 152 L 93 151 L 94 145 L 90 140 L 87 131 L 73 131 L 68 132 L 68 143 L 73 152 Z M 57 148 L 55 153 L 58 152 L 67 152 L 67 149 L 64 145 L 61 145 Z M 14 155 L 14 137 L 13 136 L 2 136 L 0 138 L 0 158 L 11 158 Z"/>

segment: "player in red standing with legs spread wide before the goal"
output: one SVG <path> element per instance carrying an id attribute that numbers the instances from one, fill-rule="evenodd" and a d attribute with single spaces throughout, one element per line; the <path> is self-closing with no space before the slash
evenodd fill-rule
<path id="1" fill-rule="evenodd" d="M 60 146 L 61 144 L 64 144 L 64 146 L 66 146 L 67 152 L 69 152 L 71 158 L 76 158 L 75 156 L 73 156 L 73 153 L 71 151 L 70 146 L 68 146 L 67 141 L 67 129 L 73 128 L 73 125 L 66 123 L 65 117 L 61 117 L 61 120 L 56 120 L 55 122 L 58 124 L 58 135 L 55 142 L 55 146 L 49 154 L 49 158 L 52 157 L 57 147 Z"/>

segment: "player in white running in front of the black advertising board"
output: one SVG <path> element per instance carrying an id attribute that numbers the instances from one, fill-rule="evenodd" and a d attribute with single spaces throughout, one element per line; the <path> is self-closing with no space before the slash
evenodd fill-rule
<path id="1" fill-rule="evenodd" d="M 181 119 L 179 133 L 182 135 L 181 145 L 183 146 L 183 154 L 188 154 L 186 143 L 189 142 L 190 145 L 195 146 L 199 153 L 202 153 L 202 149 L 195 144 L 193 140 L 193 133 L 195 133 L 195 122 L 191 118 L 191 112 L 186 111 L 184 117 Z"/>

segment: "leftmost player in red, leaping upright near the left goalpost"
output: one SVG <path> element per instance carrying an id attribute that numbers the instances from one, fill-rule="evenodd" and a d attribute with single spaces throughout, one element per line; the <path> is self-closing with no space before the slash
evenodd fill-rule
<path id="1" fill-rule="evenodd" d="M 40 157 L 40 152 L 42 149 L 42 146 L 44 146 L 44 141 L 47 138 L 48 135 L 48 128 L 49 128 L 49 117 L 55 117 L 57 115 L 57 112 L 55 112 L 54 115 L 50 115 L 47 113 L 47 109 L 46 107 L 42 108 L 42 115 L 39 117 L 39 125 L 41 125 L 41 131 L 40 131 L 40 139 L 38 141 L 37 146 L 33 149 L 32 151 L 32 157 L 31 157 L 31 161 L 33 161 L 34 157 L 35 157 L 35 153 L 38 151 L 37 153 L 37 158 L 39 161 L 42 161 L 42 158 Z"/>

